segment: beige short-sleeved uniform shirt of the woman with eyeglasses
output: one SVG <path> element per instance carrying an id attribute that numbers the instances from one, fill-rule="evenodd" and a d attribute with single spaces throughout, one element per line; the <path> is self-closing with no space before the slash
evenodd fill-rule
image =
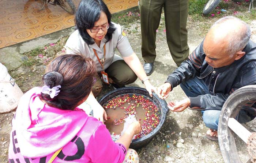
<path id="1" fill-rule="evenodd" d="M 114 61 L 122 59 L 121 57 L 114 54 L 116 48 L 122 57 L 131 56 L 133 50 L 127 37 L 122 34 L 123 31 L 121 29 L 121 25 L 116 23 L 113 24 L 116 30 L 112 34 L 112 39 L 105 43 L 106 39 L 104 38 L 101 41 L 100 47 L 98 47 L 96 43 L 88 45 L 80 36 L 79 31 L 76 30 L 69 36 L 67 43 L 65 44 L 66 54 L 79 54 L 86 58 L 93 59 L 98 72 L 102 71 L 102 66 L 95 56 L 93 49 L 96 50 L 99 59 L 101 59 L 104 57 L 104 45 L 106 44 L 104 69 L 108 68 L 109 65 Z"/>

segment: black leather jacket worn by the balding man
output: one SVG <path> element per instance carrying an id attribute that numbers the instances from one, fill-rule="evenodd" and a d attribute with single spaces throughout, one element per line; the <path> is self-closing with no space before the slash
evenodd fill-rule
<path id="1" fill-rule="evenodd" d="M 227 97 L 238 88 L 256 84 L 256 44 L 249 41 L 242 50 L 245 55 L 232 64 L 221 68 L 212 68 L 204 60 L 203 42 L 189 55 L 188 60 L 181 63 L 167 78 L 172 88 L 182 81 L 193 77 L 208 79 L 210 94 L 189 97 L 190 107 L 200 107 L 205 110 L 221 110 Z M 252 105 L 251 105 L 252 106 Z M 248 107 L 251 107 L 248 106 Z"/>

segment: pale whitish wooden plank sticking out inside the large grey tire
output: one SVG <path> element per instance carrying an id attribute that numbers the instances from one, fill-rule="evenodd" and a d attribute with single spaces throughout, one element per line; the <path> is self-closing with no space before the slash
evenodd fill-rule
<path id="1" fill-rule="evenodd" d="M 237 122 L 234 118 L 229 118 L 227 126 L 233 130 L 246 144 L 248 143 L 249 137 L 252 135 L 244 126 Z"/>

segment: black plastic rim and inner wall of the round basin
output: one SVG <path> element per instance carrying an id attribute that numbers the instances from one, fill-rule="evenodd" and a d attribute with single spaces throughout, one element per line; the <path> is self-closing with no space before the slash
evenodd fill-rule
<path id="1" fill-rule="evenodd" d="M 101 106 L 103 106 L 110 99 L 118 95 L 124 95 L 124 94 L 139 94 L 139 95 L 148 97 L 151 100 L 153 100 L 153 102 L 161 111 L 161 119 L 158 126 L 146 136 L 143 136 L 142 138 L 138 138 L 138 139 L 133 139 L 129 147 L 133 149 L 142 148 L 143 146 L 146 146 L 153 139 L 153 137 L 160 131 L 161 127 L 163 126 L 163 123 L 165 122 L 166 114 L 169 111 L 169 108 L 167 107 L 167 103 L 165 102 L 165 100 L 160 99 L 157 96 L 157 94 L 153 93 L 153 97 L 150 97 L 148 94 L 148 91 L 140 87 L 124 87 L 124 88 L 119 88 L 119 89 L 110 91 L 108 94 L 106 94 L 101 99 L 99 99 L 98 102 L 99 104 L 101 104 Z"/>

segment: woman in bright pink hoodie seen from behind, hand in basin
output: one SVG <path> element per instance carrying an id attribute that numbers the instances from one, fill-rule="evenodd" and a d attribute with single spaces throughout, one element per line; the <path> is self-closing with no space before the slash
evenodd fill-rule
<path id="1" fill-rule="evenodd" d="M 113 142 L 101 121 L 78 108 L 96 81 L 95 69 L 94 61 L 81 55 L 61 55 L 49 63 L 44 86 L 22 96 L 12 119 L 10 163 L 138 162 L 128 148 L 141 130 L 139 122 Z"/>

